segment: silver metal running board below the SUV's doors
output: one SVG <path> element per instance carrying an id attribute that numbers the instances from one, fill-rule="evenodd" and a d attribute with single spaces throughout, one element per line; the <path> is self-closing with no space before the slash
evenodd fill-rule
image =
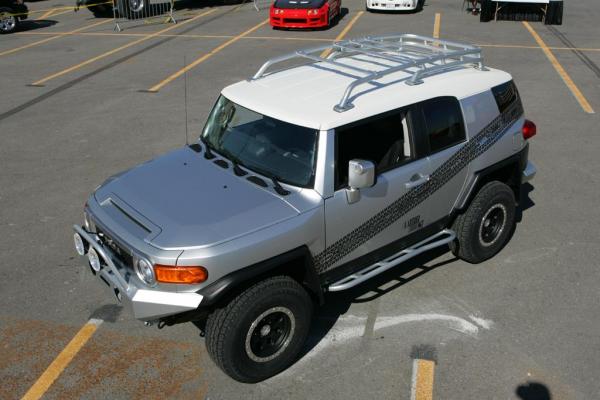
<path id="1" fill-rule="evenodd" d="M 443 231 L 438 232 L 422 242 L 408 247 L 383 261 L 370 265 L 352 275 L 345 277 L 344 279 L 340 279 L 339 281 L 332 283 L 329 285 L 328 290 L 330 292 L 339 292 L 341 290 L 350 289 L 374 277 L 375 275 L 379 275 L 382 272 L 403 263 L 404 261 L 418 256 L 421 253 L 448 244 L 455 238 L 456 233 L 453 230 L 444 229 Z"/>

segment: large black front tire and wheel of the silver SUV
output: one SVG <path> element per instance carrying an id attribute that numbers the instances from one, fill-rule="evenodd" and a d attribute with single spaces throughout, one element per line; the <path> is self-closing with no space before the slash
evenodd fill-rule
<path id="1" fill-rule="evenodd" d="M 208 317 L 208 354 L 233 379 L 260 382 L 296 360 L 312 313 L 312 300 L 298 282 L 287 276 L 267 278 Z"/>

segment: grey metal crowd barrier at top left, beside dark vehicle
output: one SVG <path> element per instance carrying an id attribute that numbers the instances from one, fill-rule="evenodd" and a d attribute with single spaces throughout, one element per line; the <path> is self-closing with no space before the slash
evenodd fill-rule
<path id="1" fill-rule="evenodd" d="M 177 23 L 173 16 L 175 0 L 114 0 L 113 17 L 115 30 L 120 32 L 125 25 L 148 23 L 164 18 L 164 23 Z"/>

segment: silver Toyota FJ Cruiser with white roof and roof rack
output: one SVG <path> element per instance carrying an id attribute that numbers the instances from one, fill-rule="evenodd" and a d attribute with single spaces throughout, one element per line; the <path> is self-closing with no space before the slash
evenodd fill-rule
<path id="1" fill-rule="evenodd" d="M 225 88 L 197 143 L 100 185 L 75 247 L 136 318 L 197 321 L 215 363 L 257 382 L 298 357 L 325 292 L 439 246 L 498 253 L 535 133 L 477 47 L 403 34 L 297 51 Z"/>

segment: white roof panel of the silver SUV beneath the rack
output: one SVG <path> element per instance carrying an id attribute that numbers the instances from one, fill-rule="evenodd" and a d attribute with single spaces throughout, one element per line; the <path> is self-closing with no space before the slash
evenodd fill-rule
<path id="1" fill-rule="evenodd" d="M 338 60 L 369 69 L 373 69 L 373 63 L 382 63 L 381 59 L 365 55 Z M 410 76 L 410 73 L 400 71 L 377 80 L 377 83 L 359 86 L 350 97 L 354 108 L 344 112 L 337 112 L 333 107 L 340 102 L 346 87 L 361 75 L 323 62 L 241 81 L 223 89 L 222 94 L 234 103 L 263 115 L 308 128 L 328 130 L 433 97 L 462 99 L 512 79 L 508 73 L 497 69 L 481 71 L 470 66 L 424 77 L 424 82 L 419 85 L 407 85 L 405 81 Z"/>

